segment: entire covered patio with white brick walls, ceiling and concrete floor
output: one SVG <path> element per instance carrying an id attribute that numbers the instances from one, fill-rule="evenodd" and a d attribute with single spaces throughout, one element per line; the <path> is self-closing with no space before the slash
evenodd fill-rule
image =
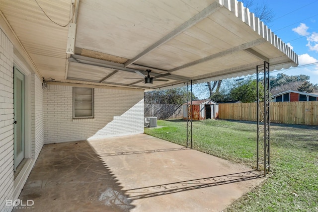
<path id="1" fill-rule="evenodd" d="M 266 175 L 269 72 L 298 65 L 237 0 L 0 0 L 0 41 L 5 212 L 224 209 L 261 175 L 143 135 L 144 92 L 263 74 Z"/>

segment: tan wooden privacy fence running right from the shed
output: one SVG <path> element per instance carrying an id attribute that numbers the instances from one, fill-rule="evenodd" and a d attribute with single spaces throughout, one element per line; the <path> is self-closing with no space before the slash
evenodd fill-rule
<path id="1" fill-rule="evenodd" d="M 318 125 L 318 101 L 271 102 L 269 113 L 273 123 Z M 256 103 L 219 104 L 219 119 L 256 121 Z"/>

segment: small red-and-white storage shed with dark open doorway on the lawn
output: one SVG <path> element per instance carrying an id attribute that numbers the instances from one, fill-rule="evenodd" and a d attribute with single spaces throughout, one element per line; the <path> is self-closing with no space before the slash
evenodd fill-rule
<path id="1" fill-rule="evenodd" d="M 189 102 L 188 104 L 191 104 Z M 189 107 L 189 116 L 191 116 L 191 107 Z M 187 103 L 182 105 L 183 119 L 187 119 Z M 192 120 L 200 121 L 205 119 L 216 119 L 219 116 L 219 104 L 212 100 L 192 101 Z"/>

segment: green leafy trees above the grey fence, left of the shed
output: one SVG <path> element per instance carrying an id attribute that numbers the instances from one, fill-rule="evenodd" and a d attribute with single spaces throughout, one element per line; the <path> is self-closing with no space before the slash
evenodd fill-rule
<path id="1" fill-rule="evenodd" d="M 189 98 L 191 93 L 188 92 Z M 187 91 L 185 87 L 172 88 L 167 90 L 155 90 L 145 92 L 145 103 L 148 104 L 176 104 L 181 105 L 187 101 Z M 192 99 L 197 99 L 192 93 Z"/>

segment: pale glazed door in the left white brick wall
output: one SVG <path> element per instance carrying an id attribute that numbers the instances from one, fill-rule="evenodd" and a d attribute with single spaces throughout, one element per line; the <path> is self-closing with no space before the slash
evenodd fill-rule
<path id="1" fill-rule="evenodd" d="M 24 158 L 24 75 L 14 68 L 14 171 Z"/>

